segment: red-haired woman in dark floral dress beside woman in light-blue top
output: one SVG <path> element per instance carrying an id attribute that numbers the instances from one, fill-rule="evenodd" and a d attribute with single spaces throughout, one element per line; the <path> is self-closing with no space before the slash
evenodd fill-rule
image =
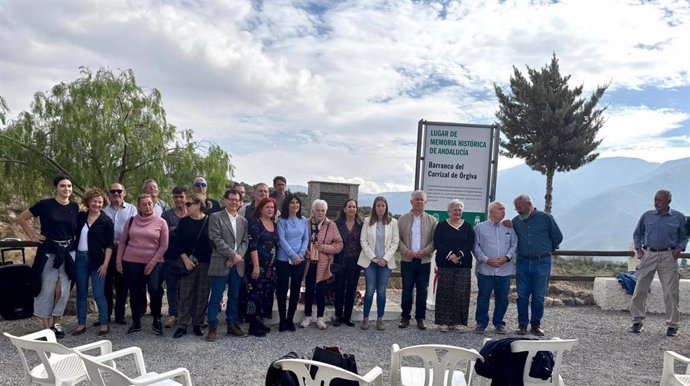
<path id="1" fill-rule="evenodd" d="M 247 320 L 249 333 L 265 336 L 271 331 L 263 323 L 273 310 L 273 294 L 276 289 L 275 254 L 278 232 L 275 225 L 275 201 L 268 197 L 257 205 L 254 218 L 249 222 L 249 257 L 247 272 Z"/>

